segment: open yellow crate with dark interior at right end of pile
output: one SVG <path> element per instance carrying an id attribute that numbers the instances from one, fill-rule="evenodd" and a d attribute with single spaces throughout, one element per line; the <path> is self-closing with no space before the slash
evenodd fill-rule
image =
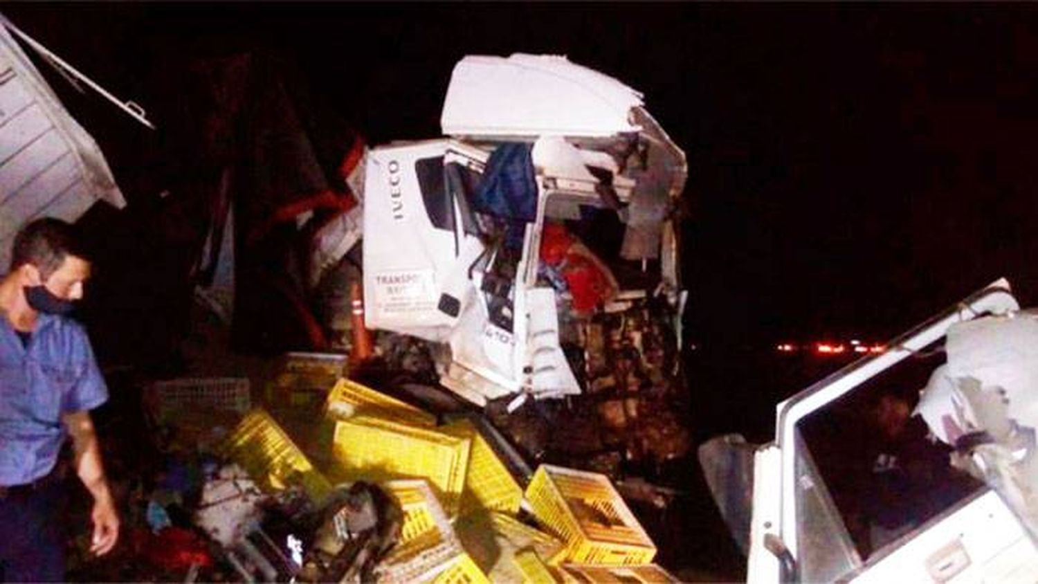
<path id="1" fill-rule="evenodd" d="M 602 474 L 541 465 L 526 488 L 538 522 L 566 543 L 574 563 L 651 563 L 656 546 Z"/>

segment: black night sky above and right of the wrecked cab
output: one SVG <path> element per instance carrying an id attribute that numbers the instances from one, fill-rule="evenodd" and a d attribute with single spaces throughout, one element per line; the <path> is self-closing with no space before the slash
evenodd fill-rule
<path id="1" fill-rule="evenodd" d="M 372 144 L 439 135 L 450 69 L 465 54 L 565 54 L 611 75 L 645 93 L 688 155 L 683 263 L 701 345 L 882 339 L 1003 275 L 1026 304 L 1038 295 L 1035 6 L 16 3 L 4 11 L 148 107 L 159 126 L 176 95 L 156 92 L 153 81 L 175 75 L 162 63 L 177 54 L 282 55 Z M 140 132 L 107 105 L 90 111 L 101 112 L 85 124 L 103 146 Z M 117 173 L 129 171 L 109 158 Z"/>

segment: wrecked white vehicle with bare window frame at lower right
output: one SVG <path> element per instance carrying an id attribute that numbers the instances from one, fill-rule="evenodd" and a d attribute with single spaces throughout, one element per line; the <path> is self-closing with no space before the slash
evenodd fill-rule
<path id="1" fill-rule="evenodd" d="M 933 367 L 927 361 L 934 357 L 946 362 Z M 843 405 L 850 417 L 867 418 L 862 405 L 868 393 L 881 391 L 882 380 L 899 367 L 920 364 L 932 373 L 913 415 L 926 421 L 931 438 L 951 447 L 944 458 L 950 471 L 940 475 L 943 480 L 965 477 L 973 486 L 898 530 L 884 531 L 875 524 L 867 530 L 853 525 L 861 521 L 848 508 L 873 497 L 876 486 L 867 479 L 863 484 L 841 476 L 832 470 L 839 465 L 829 465 L 825 472 L 820 456 L 832 461 L 853 455 L 871 440 L 855 440 L 849 427 L 840 425 L 846 419 L 834 423 L 832 414 Z M 748 545 L 743 541 L 748 548 L 747 580 L 1035 582 L 1036 410 L 1038 315 L 1019 310 L 1004 279 L 894 339 L 884 353 L 851 363 L 786 399 L 777 406 L 774 442 L 757 448 L 753 457 Z M 835 440 L 819 440 L 826 435 L 815 430 L 825 424 L 836 428 L 828 435 Z M 717 440 L 747 450 L 731 436 Z M 701 449 L 701 462 L 723 457 L 713 449 L 717 440 L 706 448 L 710 454 L 705 456 Z M 836 443 L 844 450 L 834 454 Z M 897 464 L 894 457 L 880 457 L 872 472 Z M 709 468 L 707 475 L 733 534 L 744 535 L 746 526 L 731 521 L 738 523 L 740 515 L 731 512 L 739 506 L 738 485 L 720 484 L 721 475 L 711 475 Z M 925 488 L 919 500 L 941 501 L 943 484 Z M 907 500 L 910 492 L 903 486 L 895 495 Z M 894 506 L 902 509 L 902 502 L 911 504 L 895 501 Z"/>

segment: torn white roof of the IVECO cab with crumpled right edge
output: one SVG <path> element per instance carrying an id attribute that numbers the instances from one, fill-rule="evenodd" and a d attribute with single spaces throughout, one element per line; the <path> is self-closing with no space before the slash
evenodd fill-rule
<path id="1" fill-rule="evenodd" d="M 549 219 L 572 219 L 579 205 L 626 204 L 617 210 L 626 224 L 622 256 L 659 258 L 677 303 L 671 212 L 688 167 L 640 92 L 562 56 L 467 56 L 452 74 L 440 123 L 459 139 L 535 142 Z"/>

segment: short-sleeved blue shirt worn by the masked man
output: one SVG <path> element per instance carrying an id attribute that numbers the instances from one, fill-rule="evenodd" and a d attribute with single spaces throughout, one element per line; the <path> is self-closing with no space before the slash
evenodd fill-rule
<path id="1" fill-rule="evenodd" d="M 92 410 L 107 399 L 82 326 L 40 313 L 23 345 L 0 312 L 0 485 L 50 473 L 67 435 L 62 414 Z"/>

